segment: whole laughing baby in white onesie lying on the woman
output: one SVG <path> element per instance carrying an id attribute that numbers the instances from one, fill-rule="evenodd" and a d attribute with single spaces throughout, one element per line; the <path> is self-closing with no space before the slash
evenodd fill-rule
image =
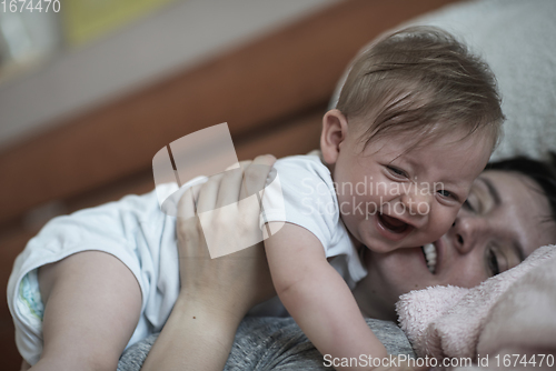
<path id="1" fill-rule="evenodd" d="M 356 59 L 324 117 L 320 152 L 277 161 L 286 212 L 265 208 L 284 224 L 265 241 L 268 263 L 322 354 L 386 355 L 350 292 L 366 274 L 359 255 L 443 235 L 502 121 L 484 63 L 438 29 L 406 29 Z M 435 252 L 427 259 L 434 272 Z M 52 220 L 10 277 L 19 351 L 37 369 L 115 368 L 126 344 L 163 327 L 178 263 L 176 220 L 155 192 Z"/>

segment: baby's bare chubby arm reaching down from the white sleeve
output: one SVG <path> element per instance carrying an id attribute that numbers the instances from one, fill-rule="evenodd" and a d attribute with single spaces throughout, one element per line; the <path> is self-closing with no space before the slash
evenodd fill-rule
<path id="1" fill-rule="evenodd" d="M 265 241 L 265 248 L 276 292 L 320 353 L 357 359 L 360 354 L 387 355 L 367 327 L 348 285 L 328 263 L 322 244 L 311 232 L 285 223 Z"/>

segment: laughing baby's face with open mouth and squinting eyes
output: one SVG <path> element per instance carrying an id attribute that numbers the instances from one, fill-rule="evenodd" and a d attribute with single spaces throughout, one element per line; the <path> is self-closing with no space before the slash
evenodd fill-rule
<path id="1" fill-rule="evenodd" d="M 420 142 L 415 134 L 386 136 L 368 144 L 361 136 L 357 127 L 348 131 L 334 181 L 344 223 L 376 252 L 420 247 L 446 233 L 492 150 L 478 132 Z"/>

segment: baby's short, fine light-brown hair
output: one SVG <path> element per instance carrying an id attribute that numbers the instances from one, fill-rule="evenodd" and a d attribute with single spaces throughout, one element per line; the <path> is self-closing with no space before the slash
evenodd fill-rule
<path id="1" fill-rule="evenodd" d="M 435 27 L 406 28 L 361 52 L 336 108 L 348 119 L 370 121 L 367 143 L 387 133 L 430 138 L 480 130 L 494 150 L 504 122 L 489 67 Z"/>

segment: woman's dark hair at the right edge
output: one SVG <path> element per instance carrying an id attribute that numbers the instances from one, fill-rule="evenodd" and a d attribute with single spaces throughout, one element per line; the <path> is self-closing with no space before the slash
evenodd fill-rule
<path id="1" fill-rule="evenodd" d="M 533 179 L 543 190 L 550 205 L 549 220 L 556 221 L 556 153 L 549 152 L 549 161 L 532 160 L 519 156 L 487 164 L 485 170 L 515 171 Z"/>

